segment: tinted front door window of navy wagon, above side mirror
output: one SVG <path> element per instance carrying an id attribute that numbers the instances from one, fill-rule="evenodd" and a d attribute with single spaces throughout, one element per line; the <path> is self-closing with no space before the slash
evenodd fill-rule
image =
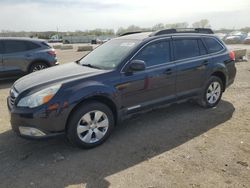
<path id="1" fill-rule="evenodd" d="M 146 66 L 159 65 L 170 61 L 170 44 L 168 41 L 155 42 L 143 48 L 134 59 L 143 60 Z"/>

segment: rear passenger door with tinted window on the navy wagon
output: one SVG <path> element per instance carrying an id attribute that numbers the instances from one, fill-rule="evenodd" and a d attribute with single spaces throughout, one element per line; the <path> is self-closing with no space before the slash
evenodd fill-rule
<path id="1" fill-rule="evenodd" d="M 209 58 L 201 39 L 174 37 L 174 57 L 177 67 L 177 97 L 186 98 L 200 92 L 208 72 Z"/>

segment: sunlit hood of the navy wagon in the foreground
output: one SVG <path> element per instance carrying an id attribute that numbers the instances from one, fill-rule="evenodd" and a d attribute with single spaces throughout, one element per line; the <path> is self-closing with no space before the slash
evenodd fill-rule
<path id="1" fill-rule="evenodd" d="M 79 78 L 81 79 L 104 72 L 106 71 L 81 66 L 77 63 L 66 63 L 28 74 L 18 79 L 14 83 L 14 88 L 18 93 L 21 93 L 32 87 L 51 85 L 55 83 L 66 83 L 68 81 Z"/>

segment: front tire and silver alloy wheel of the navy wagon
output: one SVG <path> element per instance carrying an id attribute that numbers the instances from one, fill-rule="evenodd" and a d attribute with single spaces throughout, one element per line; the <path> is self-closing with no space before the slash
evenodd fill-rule
<path id="1" fill-rule="evenodd" d="M 102 144 L 114 127 L 114 115 L 103 103 L 90 101 L 80 105 L 71 115 L 66 135 L 75 146 L 88 149 Z"/>

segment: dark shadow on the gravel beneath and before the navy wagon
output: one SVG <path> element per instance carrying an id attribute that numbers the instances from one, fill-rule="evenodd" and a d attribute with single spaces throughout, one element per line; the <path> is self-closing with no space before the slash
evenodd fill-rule
<path id="1" fill-rule="evenodd" d="M 154 110 L 123 122 L 91 150 L 74 148 L 64 138 L 29 141 L 7 131 L 0 134 L 1 187 L 109 187 L 107 176 L 184 144 L 234 111 L 227 101 L 213 109 L 183 103 Z"/>

